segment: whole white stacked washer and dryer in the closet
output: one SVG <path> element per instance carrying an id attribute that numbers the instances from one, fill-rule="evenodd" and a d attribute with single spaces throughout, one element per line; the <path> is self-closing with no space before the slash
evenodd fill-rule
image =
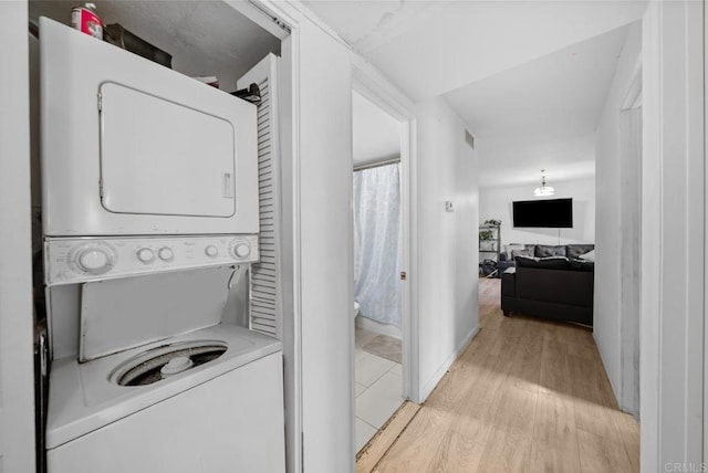
<path id="1" fill-rule="evenodd" d="M 284 471 L 281 343 L 225 315 L 259 259 L 256 107 L 40 31 L 49 472 Z"/>

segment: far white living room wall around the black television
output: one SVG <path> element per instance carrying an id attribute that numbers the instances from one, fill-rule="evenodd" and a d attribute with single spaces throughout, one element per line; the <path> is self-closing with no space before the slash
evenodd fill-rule
<path id="1" fill-rule="evenodd" d="M 511 202 L 537 200 L 533 189 L 540 181 L 527 186 L 482 187 L 479 189 L 479 223 L 501 220 L 501 243 L 570 244 L 595 242 L 595 179 L 548 182 L 555 189 L 551 199 L 573 198 L 572 229 L 514 229 Z M 545 199 L 545 198 L 544 198 Z M 560 233 L 559 233 L 560 230 Z M 560 243 L 559 243 L 560 234 Z M 503 249 L 503 246 L 502 246 Z"/>

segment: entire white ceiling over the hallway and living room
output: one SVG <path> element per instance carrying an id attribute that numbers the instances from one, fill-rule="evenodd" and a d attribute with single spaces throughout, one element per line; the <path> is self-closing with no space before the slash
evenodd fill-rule
<path id="1" fill-rule="evenodd" d="M 594 176 L 594 133 L 645 1 L 305 0 L 415 102 L 477 138 L 480 186 Z"/>

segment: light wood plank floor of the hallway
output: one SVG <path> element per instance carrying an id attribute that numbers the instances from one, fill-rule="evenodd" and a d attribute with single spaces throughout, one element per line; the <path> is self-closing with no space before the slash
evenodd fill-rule
<path id="1" fill-rule="evenodd" d="M 503 317 L 499 292 L 499 280 L 480 280 L 480 333 L 357 472 L 639 471 L 638 424 L 617 409 L 591 332 Z"/>

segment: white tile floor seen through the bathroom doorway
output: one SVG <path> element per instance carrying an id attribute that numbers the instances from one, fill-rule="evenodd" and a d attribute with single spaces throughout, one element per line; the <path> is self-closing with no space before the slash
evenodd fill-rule
<path id="1" fill-rule="evenodd" d="M 356 451 L 382 428 L 404 401 L 400 364 L 364 351 L 362 348 L 376 333 L 356 328 L 355 334 L 355 397 Z"/>

